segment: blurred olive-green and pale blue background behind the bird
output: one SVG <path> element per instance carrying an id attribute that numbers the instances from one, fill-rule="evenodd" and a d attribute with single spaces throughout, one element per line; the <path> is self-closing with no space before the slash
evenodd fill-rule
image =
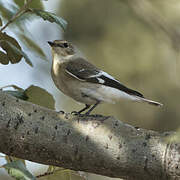
<path id="1" fill-rule="evenodd" d="M 56 101 L 57 110 L 78 111 L 83 105 L 63 95 L 50 77 L 51 52 L 47 41 L 67 39 L 89 61 L 129 88 L 164 104 L 119 102 L 98 106 L 94 113 L 146 129 L 176 130 L 180 126 L 180 2 L 178 0 L 54 0 L 45 9 L 68 22 L 65 33 L 55 24 L 33 19 L 26 26 L 48 61 L 24 49 L 34 68 L 23 61 L 0 65 L 0 86 L 40 86 Z M 38 33 L 37 33 L 38 32 Z M 16 33 L 14 34 L 16 36 Z M 89 175 L 89 179 L 101 179 Z"/>

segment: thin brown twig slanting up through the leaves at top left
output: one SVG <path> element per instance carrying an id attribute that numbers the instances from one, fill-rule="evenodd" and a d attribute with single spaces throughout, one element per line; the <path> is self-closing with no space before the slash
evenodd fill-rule
<path id="1" fill-rule="evenodd" d="M 7 26 L 9 26 L 9 24 L 14 22 L 18 17 L 22 16 L 24 13 L 26 13 L 27 7 L 28 7 L 29 3 L 31 3 L 31 1 L 32 0 L 27 0 L 27 2 L 25 2 L 24 6 L 0 29 L 0 31 L 2 32 L 4 29 L 6 29 Z"/>

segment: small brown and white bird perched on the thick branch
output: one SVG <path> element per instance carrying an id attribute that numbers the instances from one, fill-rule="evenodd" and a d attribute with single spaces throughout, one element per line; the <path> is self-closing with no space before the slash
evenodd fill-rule
<path id="1" fill-rule="evenodd" d="M 124 98 L 146 102 L 155 106 L 161 103 L 145 99 L 144 96 L 127 88 L 108 73 L 89 63 L 70 42 L 65 40 L 48 41 L 52 48 L 52 79 L 64 94 L 84 103 L 90 112 L 100 103 L 114 103 Z"/>

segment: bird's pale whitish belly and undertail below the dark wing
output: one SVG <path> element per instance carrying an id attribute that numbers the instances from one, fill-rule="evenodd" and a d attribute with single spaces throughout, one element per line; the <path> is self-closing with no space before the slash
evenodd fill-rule
<path id="1" fill-rule="evenodd" d="M 128 95 L 118 89 L 100 84 L 79 82 L 78 80 L 59 82 L 57 87 L 67 96 L 88 105 L 97 102 L 115 103 L 120 99 L 137 101 L 135 96 Z"/>

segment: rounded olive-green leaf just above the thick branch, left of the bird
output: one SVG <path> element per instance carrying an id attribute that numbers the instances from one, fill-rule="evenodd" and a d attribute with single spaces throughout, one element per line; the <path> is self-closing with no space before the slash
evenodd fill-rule
<path id="1" fill-rule="evenodd" d="M 29 102 L 47 107 L 49 109 L 55 109 L 54 98 L 46 90 L 32 85 L 25 90 L 25 93 L 28 96 Z"/>

